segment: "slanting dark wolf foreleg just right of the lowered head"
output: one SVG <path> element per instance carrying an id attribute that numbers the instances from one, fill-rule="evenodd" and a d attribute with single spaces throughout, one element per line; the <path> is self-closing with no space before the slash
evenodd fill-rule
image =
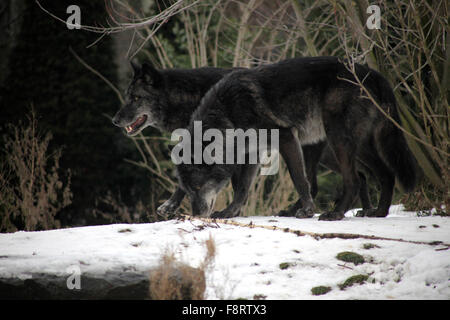
<path id="1" fill-rule="evenodd" d="M 242 165 L 241 172 L 231 178 L 234 191 L 233 202 L 224 210 L 214 212 L 211 218 L 233 218 L 239 215 L 242 206 L 247 202 L 248 191 L 258 169 L 259 165 L 257 164 Z"/>

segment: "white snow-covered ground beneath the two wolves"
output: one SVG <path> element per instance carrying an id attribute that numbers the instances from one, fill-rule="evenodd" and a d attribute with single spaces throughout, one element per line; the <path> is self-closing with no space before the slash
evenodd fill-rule
<path id="1" fill-rule="evenodd" d="M 239 217 L 235 221 L 288 227 L 309 232 L 342 232 L 450 243 L 450 219 L 418 217 L 392 206 L 387 218 L 342 221 L 288 217 Z M 116 224 L 42 232 L 0 234 L 0 278 L 27 278 L 32 273 L 66 274 L 79 266 L 84 274 L 146 271 L 170 249 L 197 266 L 204 241 L 212 236 L 217 253 L 207 275 L 208 299 L 450 299 L 450 249 L 386 240 L 321 239 L 277 230 L 201 221 Z M 364 249 L 364 244 L 376 245 Z M 361 254 L 359 265 L 336 259 L 343 251 Z M 280 264 L 288 263 L 285 269 Z M 353 275 L 369 275 L 366 283 L 340 290 Z M 329 286 L 314 296 L 311 288 Z"/>

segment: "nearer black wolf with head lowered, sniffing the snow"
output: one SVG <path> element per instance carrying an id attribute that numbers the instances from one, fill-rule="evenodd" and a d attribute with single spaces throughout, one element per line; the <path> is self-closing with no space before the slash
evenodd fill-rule
<path id="1" fill-rule="evenodd" d="M 357 77 L 363 79 L 377 104 L 400 122 L 387 80 L 368 67 L 355 65 L 355 68 Z M 385 216 L 395 176 L 406 191 L 412 190 L 416 163 L 402 132 L 363 97 L 361 88 L 352 81 L 355 81 L 353 74 L 334 57 L 290 59 L 234 71 L 203 97 L 189 128 L 192 130 L 194 121 L 202 121 L 205 128 L 223 131 L 279 129 L 279 151 L 300 195 L 285 214 L 296 217 L 310 217 L 314 208 L 302 146 L 320 146 L 327 140 L 343 175 L 344 191 L 335 211 L 321 215 L 321 219 L 341 219 L 353 204 L 360 188 L 357 161 L 370 168 L 382 187 L 378 208 L 363 214 Z M 236 177 L 242 177 L 245 181 L 242 189 L 246 189 L 255 170 L 249 165 L 177 166 L 180 185 L 191 199 L 194 215 L 210 213 L 215 196 L 233 176 L 232 183 Z M 245 194 L 240 197 L 246 199 Z M 213 216 L 227 216 L 231 212 L 227 209 Z"/>

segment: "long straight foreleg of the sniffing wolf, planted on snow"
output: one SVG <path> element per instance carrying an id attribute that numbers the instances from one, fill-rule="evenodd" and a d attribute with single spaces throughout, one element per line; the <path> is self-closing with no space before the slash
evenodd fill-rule
<path id="1" fill-rule="evenodd" d="M 314 202 L 305 171 L 302 147 L 291 129 L 280 130 L 280 153 L 286 162 L 300 199 L 291 208 L 281 211 L 279 215 L 310 218 L 314 215 Z"/>

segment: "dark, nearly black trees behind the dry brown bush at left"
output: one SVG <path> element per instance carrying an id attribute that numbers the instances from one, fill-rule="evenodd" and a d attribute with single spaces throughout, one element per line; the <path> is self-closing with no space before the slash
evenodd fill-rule
<path id="1" fill-rule="evenodd" d="M 55 15 L 68 17 L 66 8 L 73 1 L 41 3 Z M 83 24 L 105 24 L 103 1 L 76 4 Z M 147 201 L 152 192 L 149 177 L 143 169 L 124 162 L 124 158 L 136 158 L 135 148 L 110 121 L 120 107 L 119 100 L 72 54 L 118 86 L 117 57 L 121 52 L 117 37 L 105 37 L 88 48 L 98 34 L 69 30 L 34 1 L 7 1 L 2 9 L 3 15 L 10 15 L 2 20 L 2 29 L 8 32 L 1 45 L 0 135 L 11 134 L 8 123 L 25 125 L 32 109 L 38 129 L 53 134 L 48 150 L 62 148 L 60 171 L 70 170 L 73 193 L 71 205 L 56 218 L 62 225 L 102 223 L 106 218 L 98 212 L 112 212 L 101 201 L 108 195 L 130 207 L 136 199 Z M 20 217 L 15 223 L 19 229 L 24 226 Z"/>

